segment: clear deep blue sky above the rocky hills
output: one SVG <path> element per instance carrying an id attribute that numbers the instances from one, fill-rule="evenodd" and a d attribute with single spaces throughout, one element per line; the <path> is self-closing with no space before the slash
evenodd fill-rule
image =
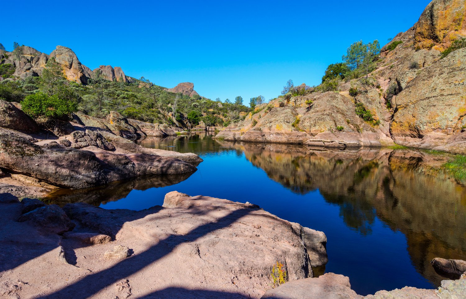
<path id="1" fill-rule="evenodd" d="M 207 98 L 246 103 L 279 95 L 288 79 L 319 84 L 351 43 L 384 45 L 429 2 L 5 1 L 0 43 L 44 53 L 61 45 L 91 69 L 121 66 L 161 86 L 189 81 Z"/>

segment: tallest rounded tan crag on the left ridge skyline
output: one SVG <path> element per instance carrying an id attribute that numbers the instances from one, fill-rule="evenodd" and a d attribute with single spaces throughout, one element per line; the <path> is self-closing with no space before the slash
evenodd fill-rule
<path id="1" fill-rule="evenodd" d="M 87 77 L 84 74 L 84 69 L 76 54 L 70 48 L 57 46 L 49 56 L 50 59 L 55 59 L 62 68 L 66 78 L 70 81 L 86 84 Z"/>

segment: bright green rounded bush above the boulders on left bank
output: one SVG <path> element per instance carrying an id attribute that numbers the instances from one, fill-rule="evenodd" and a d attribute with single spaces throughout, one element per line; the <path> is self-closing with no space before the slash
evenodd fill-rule
<path id="1" fill-rule="evenodd" d="M 46 93 L 34 93 L 21 101 L 22 110 L 36 119 L 45 117 L 51 119 L 69 119 L 69 115 L 77 110 L 76 103 Z"/>

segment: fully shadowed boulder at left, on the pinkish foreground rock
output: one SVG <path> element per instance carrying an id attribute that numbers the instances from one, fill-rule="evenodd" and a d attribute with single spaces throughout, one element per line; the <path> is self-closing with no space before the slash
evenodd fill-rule
<path id="1" fill-rule="evenodd" d="M 71 222 L 62 208 L 57 205 L 42 206 L 21 215 L 19 222 L 27 222 L 51 233 L 65 233 L 72 230 L 75 224 Z"/>

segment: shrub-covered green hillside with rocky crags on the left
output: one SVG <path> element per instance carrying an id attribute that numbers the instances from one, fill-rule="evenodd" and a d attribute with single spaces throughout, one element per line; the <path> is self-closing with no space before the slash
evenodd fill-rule
<path id="1" fill-rule="evenodd" d="M 15 45 L 12 52 L 0 50 L 0 98 L 21 102 L 36 93 L 58 94 L 66 89 L 65 101 L 77 104 L 77 111 L 105 118 L 110 111 L 150 123 L 181 129 L 224 126 L 239 120 L 243 105 L 212 101 L 194 90 L 190 82 L 164 88 L 149 80 L 127 76 L 121 67 L 102 65 L 94 70 L 83 65 L 67 47 L 57 46 L 50 55 L 32 47 Z M 202 121 L 202 122 L 201 122 Z"/>

